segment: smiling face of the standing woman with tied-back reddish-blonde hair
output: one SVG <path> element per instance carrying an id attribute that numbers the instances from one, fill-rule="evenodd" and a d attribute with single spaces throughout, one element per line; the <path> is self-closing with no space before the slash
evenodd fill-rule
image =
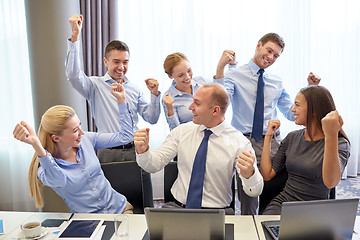
<path id="1" fill-rule="evenodd" d="M 176 89 L 186 92 L 191 87 L 192 70 L 186 60 L 181 60 L 173 69 L 170 78 L 175 80 Z"/>

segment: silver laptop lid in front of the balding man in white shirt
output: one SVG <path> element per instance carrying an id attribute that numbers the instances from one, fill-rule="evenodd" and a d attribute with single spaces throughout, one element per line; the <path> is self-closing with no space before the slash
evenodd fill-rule
<path id="1" fill-rule="evenodd" d="M 225 239 L 224 209 L 145 208 L 150 240 Z"/>

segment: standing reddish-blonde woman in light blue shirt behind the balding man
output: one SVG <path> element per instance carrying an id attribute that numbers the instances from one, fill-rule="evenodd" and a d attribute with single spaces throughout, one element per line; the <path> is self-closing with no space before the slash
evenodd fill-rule
<path id="1" fill-rule="evenodd" d="M 225 50 L 220 61 L 224 56 L 230 59 L 229 67 L 235 66 L 231 60 L 235 58 L 235 53 Z M 225 68 L 225 64 L 224 67 Z M 182 123 L 187 123 L 192 120 L 193 114 L 189 110 L 190 104 L 193 102 L 193 95 L 204 85 L 210 83 L 201 76 L 193 78 L 193 72 L 187 57 L 180 52 L 170 54 L 164 61 L 164 70 L 173 82 L 170 88 L 164 93 L 163 107 L 166 120 L 169 124 L 170 130 L 179 126 Z"/>

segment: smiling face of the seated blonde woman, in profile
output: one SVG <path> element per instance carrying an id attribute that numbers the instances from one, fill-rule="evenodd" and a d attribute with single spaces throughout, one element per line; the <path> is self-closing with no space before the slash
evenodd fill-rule
<path id="1" fill-rule="evenodd" d="M 74 115 L 66 122 L 64 130 L 60 136 L 57 136 L 56 142 L 64 148 L 77 148 L 80 146 L 83 134 L 80 119 L 77 115 Z"/>

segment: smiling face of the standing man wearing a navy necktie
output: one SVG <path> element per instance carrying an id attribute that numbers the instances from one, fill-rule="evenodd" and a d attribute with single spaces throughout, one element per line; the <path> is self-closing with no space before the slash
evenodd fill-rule
<path id="1" fill-rule="evenodd" d="M 268 41 L 264 45 L 262 42 L 259 42 L 252 60 L 260 68 L 265 69 L 270 67 L 280 57 L 282 50 L 279 44 L 272 41 Z"/>

